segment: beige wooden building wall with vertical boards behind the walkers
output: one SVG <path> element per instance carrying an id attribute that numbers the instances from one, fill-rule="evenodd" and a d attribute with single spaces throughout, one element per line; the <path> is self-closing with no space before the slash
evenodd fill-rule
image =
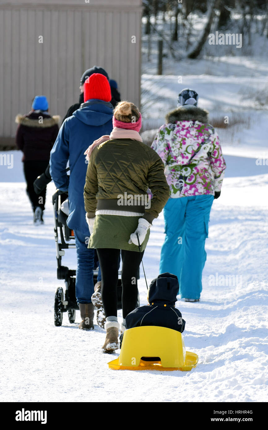
<path id="1" fill-rule="evenodd" d="M 142 0 L 0 1 L 0 146 L 14 142 L 15 116 L 46 95 L 52 115 L 78 101 L 93 65 L 139 106 Z M 39 43 L 43 36 L 43 43 Z M 133 37 L 136 37 L 136 43 Z"/>

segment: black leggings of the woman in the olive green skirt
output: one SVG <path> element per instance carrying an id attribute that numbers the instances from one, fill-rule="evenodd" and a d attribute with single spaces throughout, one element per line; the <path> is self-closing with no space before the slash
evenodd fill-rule
<path id="1" fill-rule="evenodd" d="M 102 272 L 102 303 L 106 316 L 117 316 L 118 258 L 120 249 L 98 248 Z M 123 318 L 136 307 L 138 299 L 137 276 L 143 253 L 121 249 Z"/>

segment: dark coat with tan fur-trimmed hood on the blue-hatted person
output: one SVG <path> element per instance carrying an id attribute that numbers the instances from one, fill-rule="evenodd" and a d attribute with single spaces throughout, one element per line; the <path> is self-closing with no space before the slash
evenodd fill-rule
<path id="1" fill-rule="evenodd" d="M 40 117 L 43 121 L 40 122 Z M 16 144 L 23 152 L 22 161 L 47 161 L 59 132 L 59 119 L 43 111 L 32 111 L 27 115 L 18 114 Z"/>

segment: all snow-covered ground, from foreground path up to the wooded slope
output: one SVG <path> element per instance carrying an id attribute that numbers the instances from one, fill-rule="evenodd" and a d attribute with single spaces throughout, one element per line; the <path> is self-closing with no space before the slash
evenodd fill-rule
<path id="1" fill-rule="evenodd" d="M 54 326 L 54 292 L 63 286 L 63 281 L 56 279 L 51 204 L 55 187 L 48 186 L 45 224 L 34 227 L 25 193 L 21 153 L 9 154 L 13 155 L 12 169 L 1 161 L 0 400 L 268 400 L 266 45 L 266 38 L 255 43 L 254 50 L 262 52 L 256 58 L 242 53 L 237 57 L 178 62 L 165 58 L 163 76 L 153 75 L 156 52 L 152 53 L 151 62 L 146 61 L 146 52 L 143 53 L 145 130 L 150 132 L 164 123 L 166 112 L 176 107 L 179 90 L 187 86 L 197 90 L 199 105 L 209 110 L 210 117 L 223 121 L 229 116 L 228 127 L 217 129 L 227 169 L 222 194 L 214 201 L 210 216 L 201 301 L 185 303 L 178 297 L 176 304 L 186 320 L 183 333 L 186 349 L 199 356 L 198 365 L 191 372 L 108 369 L 107 362 L 118 354 L 109 356 L 100 352 L 105 332 L 96 323 L 93 332 L 79 330 L 77 312 L 75 324 L 68 322 L 65 313 L 62 327 Z M 160 214 L 145 250 L 148 282 L 158 274 L 163 224 Z M 66 252 L 62 262 L 75 268 L 75 250 Z M 146 304 L 142 270 L 139 294 L 141 304 Z"/>

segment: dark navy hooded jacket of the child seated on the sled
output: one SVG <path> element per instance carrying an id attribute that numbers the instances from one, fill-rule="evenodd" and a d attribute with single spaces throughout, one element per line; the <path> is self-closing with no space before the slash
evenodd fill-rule
<path id="1" fill-rule="evenodd" d="M 154 279 L 148 290 L 149 306 L 140 306 L 126 316 L 126 328 L 158 326 L 183 332 L 185 320 L 175 308 L 179 282 L 176 275 L 162 273 Z"/>

